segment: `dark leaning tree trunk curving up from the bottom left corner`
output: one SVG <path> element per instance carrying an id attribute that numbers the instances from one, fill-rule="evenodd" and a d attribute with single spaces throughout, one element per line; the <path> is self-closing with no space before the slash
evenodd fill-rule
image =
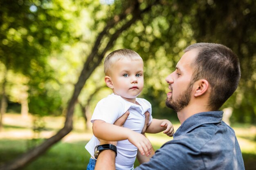
<path id="1" fill-rule="evenodd" d="M 158 3 L 158 1 L 156 1 Z M 155 2 L 155 4 L 156 4 Z M 128 29 L 135 21 L 141 18 L 141 14 L 146 13 L 151 10 L 151 7 L 155 4 L 150 4 L 148 7 L 146 7 L 143 10 L 139 9 L 139 2 L 137 0 L 129 1 L 129 3 L 132 3 L 131 6 L 128 6 L 126 9 L 124 9 L 124 13 L 120 14 L 119 16 L 114 17 L 114 19 L 110 20 L 103 31 L 98 35 L 97 40 L 95 41 L 94 47 L 92 48 L 91 54 L 88 56 L 86 62 L 84 63 L 83 70 L 81 71 L 81 74 L 79 76 L 78 82 L 74 86 L 74 92 L 70 99 L 70 102 L 67 106 L 67 113 L 66 113 L 66 120 L 64 127 L 59 130 L 56 135 L 50 137 L 49 139 L 45 140 L 42 144 L 39 146 L 36 146 L 35 148 L 29 150 L 28 152 L 24 153 L 20 157 L 14 159 L 13 161 L 9 163 L 5 163 L 3 166 L 0 167 L 0 170 L 18 170 L 25 165 L 27 165 L 32 160 L 36 159 L 40 155 L 42 155 L 47 149 L 49 149 L 51 146 L 56 144 L 58 141 L 60 141 L 63 137 L 65 137 L 73 128 L 73 113 L 74 113 L 74 106 L 77 102 L 77 98 L 85 85 L 86 80 L 90 77 L 94 69 L 99 66 L 101 63 L 101 60 L 103 59 L 106 52 L 113 46 L 113 43 L 115 40 L 117 40 L 118 36 L 126 29 Z M 132 18 L 128 21 L 127 15 L 132 15 Z M 126 19 L 126 20 L 125 20 Z M 120 29 L 117 29 L 115 33 L 110 34 L 108 31 L 109 29 L 115 27 L 117 24 L 121 24 L 122 22 L 125 22 Z M 102 40 L 104 37 L 108 37 L 108 43 L 106 46 L 101 46 Z M 102 49 L 99 51 L 99 49 Z"/>

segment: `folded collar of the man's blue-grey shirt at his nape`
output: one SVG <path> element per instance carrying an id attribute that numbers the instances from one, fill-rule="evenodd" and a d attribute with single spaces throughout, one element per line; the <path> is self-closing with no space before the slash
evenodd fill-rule
<path id="1" fill-rule="evenodd" d="M 187 133 L 202 124 L 214 124 L 222 121 L 223 111 L 202 112 L 186 119 L 177 129 L 173 137 Z"/>

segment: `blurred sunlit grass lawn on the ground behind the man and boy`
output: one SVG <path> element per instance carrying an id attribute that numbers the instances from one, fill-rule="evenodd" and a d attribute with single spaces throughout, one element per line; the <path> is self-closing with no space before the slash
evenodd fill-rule
<path id="1" fill-rule="evenodd" d="M 34 134 L 32 117 L 21 117 L 18 114 L 4 115 L 4 128 L 0 132 L 0 166 L 13 158 L 18 157 L 42 139 L 51 137 L 63 127 L 63 117 L 45 117 L 45 128 L 42 132 Z M 174 124 L 175 129 L 180 125 Z M 256 126 L 249 124 L 235 124 L 232 126 L 238 137 L 246 170 L 254 170 L 256 167 Z M 60 142 L 47 150 L 42 156 L 29 163 L 22 170 L 85 170 L 90 155 L 84 146 L 90 140 L 92 132 L 84 130 L 84 121 L 81 118 L 74 119 L 74 130 Z M 148 134 L 153 147 L 158 149 L 166 141 L 172 138 L 163 133 Z M 33 138 L 36 138 L 33 140 Z M 138 166 L 138 162 L 135 162 Z"/>

